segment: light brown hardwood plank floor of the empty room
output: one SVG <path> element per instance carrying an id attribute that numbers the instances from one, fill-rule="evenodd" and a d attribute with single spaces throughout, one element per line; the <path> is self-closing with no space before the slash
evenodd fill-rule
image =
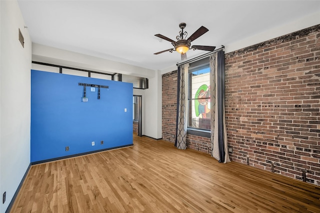
<path id="1" fill-rule="evenodd" d="M 10 212 L 320 212 L 320 187 L 133 136 L 32 165 Z"/>

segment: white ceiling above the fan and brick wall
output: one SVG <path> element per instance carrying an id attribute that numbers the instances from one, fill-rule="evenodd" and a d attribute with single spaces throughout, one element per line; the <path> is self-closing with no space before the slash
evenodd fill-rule
<path id="1" fill-rule="evenodd" d="M 180 22 L 186 23 L 184 30 L 188 35 L 201 25 L 209 29 L 191 45 L 216 48 L 224 45 L 229 51 L 282 35 L 283 26 L 289 23 L 292 29 L 301 29 L 301 19 L 306 26 L 320 23 L 320 0 L 18 0 L 18 3 L 34 43 L 154 70 L 181 62 L 175 51 L 153 54 L 172 47 L 169 41 L 154 34 L 175 40 Z M 254 35 L 257 36 L 253 39 Z M 189 50 L 187 57 L 205 52 Z"/>

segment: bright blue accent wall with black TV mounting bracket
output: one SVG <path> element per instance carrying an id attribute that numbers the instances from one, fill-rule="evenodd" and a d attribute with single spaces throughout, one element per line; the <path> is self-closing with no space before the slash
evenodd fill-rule
<path id="1" fill-rule="evenodd" d="M 78 83 L 108 88 L 82 102 Z M 132 96 L 132 83 L 31 70 L 31 162 L 132 144 Z"/>

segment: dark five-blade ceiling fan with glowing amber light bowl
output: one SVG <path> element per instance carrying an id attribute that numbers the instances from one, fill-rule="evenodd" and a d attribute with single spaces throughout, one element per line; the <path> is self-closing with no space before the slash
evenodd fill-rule
<path id="1" fill-rule="evenodd" d="M 170 41 L 171 44 L 173 45 L 174 48 L 170 49 L 165 49 L 159 52 L 155 52 L 154 54 L 160 54 L 162 52 L 172 52 L 172 51 L 177 51 L 181 54 L 181 60 L 186 58 L 186 52 L 189 49 L 200 49 L 200 50 L 206 50 L 206 51 L 213 51 L 215 49 L 215 46 L 201 46 L 201 45 L 192 45 L 191 46 L 191 41 L 195 40 L 196 38 L 200 37 L 203 35 L 205 32 L 209 31 L 207 28 L 204 26 L 200 26 L 193 34 L 191 34 L 187 39 L 185 37 L 187 36 L 187 32 L 183 31 L 184 27 L 186 26 L 186 23 L 180 23 L 179 27 L 181 31 L 179 31 L 179 35 L 177 35 L 175 38 L 177 41 L 174 41 L 168 37 L 165 37 L 164 35 L 161 34 L 155 34 L 155 36 L 160 37 L 164 40 Z M 191 46 L 191 48 L 190 48 Z"/>

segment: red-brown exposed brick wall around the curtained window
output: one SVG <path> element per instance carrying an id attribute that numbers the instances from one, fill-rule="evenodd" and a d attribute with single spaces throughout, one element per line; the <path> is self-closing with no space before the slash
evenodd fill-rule
<path id="1" fill-rule="evenodd" d="M 320 25 L 225 54 L 230 159 L 320 185 Z M 162 138 L 174 142 L 177 71 L 162 75 Z M 210 153 L 209 138 L 187 147 Z"/>

